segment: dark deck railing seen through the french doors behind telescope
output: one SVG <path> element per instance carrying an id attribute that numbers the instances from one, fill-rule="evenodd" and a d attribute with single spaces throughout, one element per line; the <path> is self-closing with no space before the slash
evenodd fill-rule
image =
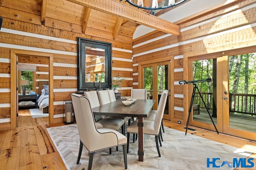
<path id="1" fill-rule="evenodd" d="M 213 108 L 213 94 L 202 93 L 201 95 L 209 110 Z M 230 113 L 242 113 L 256 115 L 256 95 L 255 94 L 229 94 Z M 199 94 L 196 93 L 193 104 L 200 104 L 200 108 L 205 108 Z"/>

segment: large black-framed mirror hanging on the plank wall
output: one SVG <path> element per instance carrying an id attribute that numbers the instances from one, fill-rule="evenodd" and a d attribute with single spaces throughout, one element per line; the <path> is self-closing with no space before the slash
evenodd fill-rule
<path id="1" fill-rule="evenodd" d="M 78 37 L 78 90 L 110 88 L 111 84 L 112 43 Z"/>

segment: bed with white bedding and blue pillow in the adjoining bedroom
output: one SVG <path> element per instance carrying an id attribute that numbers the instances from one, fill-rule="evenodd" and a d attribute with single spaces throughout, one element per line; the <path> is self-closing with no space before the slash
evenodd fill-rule
<path id="1" fill-rule="evenodd" d="M 38 106 L 42 109 L 43 113 L 48 113 L 49 109 L 49 82 L 48 81 L 40 81 L 38 82 L 39 86 L 39 98 L 38 98 Z"/>

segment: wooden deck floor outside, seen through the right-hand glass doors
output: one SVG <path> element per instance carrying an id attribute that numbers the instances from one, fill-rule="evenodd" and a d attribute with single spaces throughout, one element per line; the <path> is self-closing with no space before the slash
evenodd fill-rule
<path id="1" fill-rule="evenodd" d="M 210 115 L 212 115 L 212 112 L 210 112 Z M 212 117 L 215 124 L 217 124 L 217 118 Z M 203 121 L 206 123 L 212 123 L 209 114 L 206 110 L 200 110 L 199 115 L 194 115 L 193 120 L 196 121 Z M 234 129 L 240 129 L 244 131 L 254 132 L 256 133 L 256 117 L 251 116 L 244 116 L 244 115 L 236 115 L 236 114 L 230 114 L 230 127 Z"/>

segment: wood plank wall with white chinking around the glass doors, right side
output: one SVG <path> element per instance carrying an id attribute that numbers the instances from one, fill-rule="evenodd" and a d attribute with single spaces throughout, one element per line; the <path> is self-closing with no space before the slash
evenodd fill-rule
<path id="1" fill-rule="evenodd" d="M 256 1 L 238 0 L 217 10 L 208 10 L 196 17 L 177 21 L 180 36 L 154 31 L 134 39 L 133 42 L 133 88 L 140 87 L 138 65 L 145 61 L 158 61 L 170 57 L 174 62 L 174 92 L 171 93 L 171 121 L 186 124 L 188 108 L 185 106 L 184 89 L 178 84 L 186 79 L 184 57 L 186 53 L 204 55 L 256 47 Z M 146 42 L 146 43 L 145 43 Z M 153 51 L 153 52 L 152 52 Z M 142 87 L 143 88 L 143 87 Z"/>

